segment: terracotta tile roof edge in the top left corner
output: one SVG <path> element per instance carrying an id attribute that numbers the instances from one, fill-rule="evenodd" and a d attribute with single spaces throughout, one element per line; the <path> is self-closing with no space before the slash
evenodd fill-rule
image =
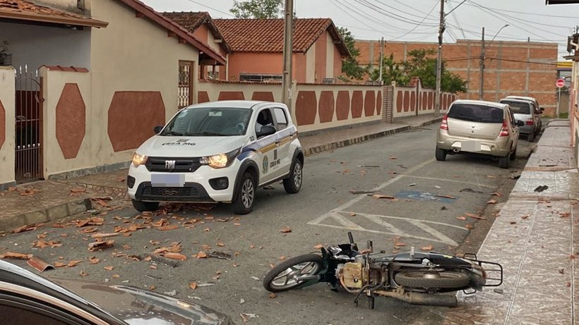
<path id="1" fill-rule="evenodd" d="M 26 0 L 0 0 L 0 18 L 92 27 L 106 27 L 108 25 L 104 21 L 69 11 L 40 6 Z"/>

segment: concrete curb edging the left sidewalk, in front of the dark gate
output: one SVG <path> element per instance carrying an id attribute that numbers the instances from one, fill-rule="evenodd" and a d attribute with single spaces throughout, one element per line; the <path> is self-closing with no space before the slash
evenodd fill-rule
<path id="1" fill-rule="evenodd" d="M 29 211 L 11 218 L 0 219 L 0 231 L 9 232 L 21 226 L 31 225 L 32 223 L 54 221 L 56 219 L 64 218 L 65 216 L 80 214 L 90 209 L 92 209 L 90 198 L 87 197 L 85 199 L 74 200 L 64 204 L 55 205 L 54 207 Z"/>

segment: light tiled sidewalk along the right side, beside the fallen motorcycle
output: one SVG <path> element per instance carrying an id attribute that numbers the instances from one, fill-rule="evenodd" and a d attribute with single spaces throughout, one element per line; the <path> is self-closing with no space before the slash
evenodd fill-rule
<path id="1" fill-rule="evenodd" d="M 579 174 L 568 121 L 551 121 L 478 252 L 503 285 L 458 294 L 443 324 L 579 324 Z M 535 192 L 539 185 L 549 188 Z"/>

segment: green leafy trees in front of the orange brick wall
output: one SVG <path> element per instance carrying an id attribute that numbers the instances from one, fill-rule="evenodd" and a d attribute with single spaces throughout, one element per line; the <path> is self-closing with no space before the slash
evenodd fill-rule
<path id="1" fill-rule="evenodd" d="M 406 86 L 412 77 L 419 77 L 426 88 L 436 88 L 436 51 L 434 49 L 416 49 L 409 51 L 407 61 L 394 62 L 393 54 L 384 57 L 382 78 L 385 84 L 395 80 L 398 85 Z M 444 66 L 444 62 L 443 62 Z M 378 80 L 379 70 L 371 73 L 372 80 Z M 460 75 L 443 69 L 441 78 L 443 92 L 466 92 L 467 82 Z"/>

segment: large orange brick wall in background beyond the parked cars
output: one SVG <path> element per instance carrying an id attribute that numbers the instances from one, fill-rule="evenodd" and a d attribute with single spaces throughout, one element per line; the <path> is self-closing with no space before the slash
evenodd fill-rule
<path id="1" fill-rule="evenodd" d="M 380 42 L 357 40 L 360 66 L 378 68 Z M 437 49 L 436 43 L 386 42 L 384 55 L 394 54 L 395 61 L 407 58 L 413 49 Z M 460 39 L 443 44 L 446 68 L 468 82 L 468 91 L 461 99 L 479 99 L 481 42 Z M 546 109 L 556 107 L 557 44 L 540 42 L 487 41 L 484 63 L 484 99 L 498 101 L 510 94 L 537 98 Z M 469 59 L 470 58 L 470 59 Z"/>

